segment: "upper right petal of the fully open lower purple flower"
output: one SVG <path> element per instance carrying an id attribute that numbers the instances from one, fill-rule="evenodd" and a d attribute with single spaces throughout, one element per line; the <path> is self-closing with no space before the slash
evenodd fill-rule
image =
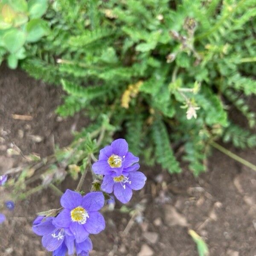
<path id="1" fill-rule="evenodd" d="M 87 212 L 96 212 L 103 207 L 104 202 L 105 198 L 102 192 L 90 192 L 83 197 L 82 207 Z"/>

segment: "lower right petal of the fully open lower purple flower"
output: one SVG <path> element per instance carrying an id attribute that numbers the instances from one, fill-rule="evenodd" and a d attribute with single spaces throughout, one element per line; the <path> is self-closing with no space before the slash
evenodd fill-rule
<path id="1" fill-rule="evenodd" d="M 105 229 L 105 219 L 99 212 L 89 212 L 89 218 L 84 224 L 84 228 L 90 234 L 98 234 Z"/>

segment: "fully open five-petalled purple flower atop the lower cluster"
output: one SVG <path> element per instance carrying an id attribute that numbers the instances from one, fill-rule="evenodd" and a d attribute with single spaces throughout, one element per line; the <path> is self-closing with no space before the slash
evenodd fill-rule
<path id="1" fill-rule="evenodd" d="M 98 212 L 104 205 L 102 192 L 90 192 L 81 196 L 80 193 L 67 189 L 61 196 L 64 208 L 55 218 L 56 227 L 64 227 L 68 235 L 75 236 L 81 243 L 89 234 L 98 234 L 105 229 L 105 220 Z"/>

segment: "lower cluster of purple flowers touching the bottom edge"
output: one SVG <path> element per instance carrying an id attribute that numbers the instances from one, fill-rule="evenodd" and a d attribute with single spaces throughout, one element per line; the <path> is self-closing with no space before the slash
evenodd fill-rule
<path id="1" fill-rule="evenodd" d="M 56 217 L 39 216 L 33 223 L 33 231 L 43 236 L 43 246 L 53 256 L 65 256 L 76 251 L 79 256 L 89 255 L 92 250 L 90 234 L 105 229 L 105 220 L 98 212 L 104 205 L 102 192 L 90 192 L 81 196 L 67 189 L 61 197 L 64 208 Z"/>

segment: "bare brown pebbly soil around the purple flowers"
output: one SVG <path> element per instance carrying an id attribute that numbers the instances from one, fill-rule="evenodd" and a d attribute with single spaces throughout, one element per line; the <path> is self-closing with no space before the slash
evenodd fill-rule
<path id="1" fill-rule="evenodd" d="M 59 118 L 55 108 L 61 89 L 29 78 L 20 70 L 0 67 L 0 173 L 20 164 L 19 157 L 6 153 L 15 143 L 24 154 L 52 153 L 53 145 L 68 145 L 72 131 L 87 120 L 82 114 Z M 18 115 L 32 120 L 17 119 Z M 34 135 L 34 136 L 33 136 Z M 227 147 L 227 145 L 225 145 Z M 230 150 L 256 164 L 255 150 Z M 256 172 L 241 166 L 218 151 L 209 158 L 208 172 L 195 179 L 187 171 L 170 176 L 159 167 L 142 167 L 148 180 L 134 193 L 127 207 L 136 209 L 135 218 L 105 210 L 106 228 L 91 236 L 91 256 L 196 256 L 188 230 L 195 230 L 209 246 L 210 256 L 256 256 Z M 87 190 L 90 176 L 84 190 Z M 66 180 L 60 189 L 74 189 Z M 8 194 L 0 188 L 0 201 Z M 48 256 L 40 237 L 32 233 L 35 213 L 59 207 L 59 196 L 50 189 L 17 202 L 15 210 L 1 209 L 7 216 L 0 226 L 0 256 Z"/>

